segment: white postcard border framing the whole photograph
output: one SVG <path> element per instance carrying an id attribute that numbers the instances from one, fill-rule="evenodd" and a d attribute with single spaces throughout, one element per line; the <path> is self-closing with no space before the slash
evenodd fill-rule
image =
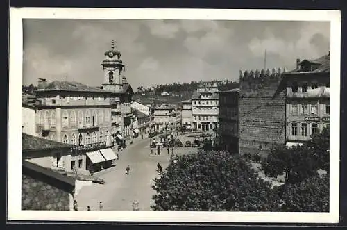
<path id="1" fill-rule="evenodd" d="M 330 212 L 22 211 L 22 19 L 201 19 L 330 22 Z M 341 13 L 339 10 L 205 10 L 130 8 L 10 8 L 8 113 L 8 220 L 112 222 L 304 222 L 339 220 L 339 113 Z"/>

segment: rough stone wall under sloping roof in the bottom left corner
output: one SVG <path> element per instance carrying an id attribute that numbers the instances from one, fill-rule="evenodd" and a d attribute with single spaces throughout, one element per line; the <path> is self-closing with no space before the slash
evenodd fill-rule
<path id="1" fill-rule="evenodd" d="M 70 210 L 72 188 L 42 175 L 22 175 L 22 210 Z"/>

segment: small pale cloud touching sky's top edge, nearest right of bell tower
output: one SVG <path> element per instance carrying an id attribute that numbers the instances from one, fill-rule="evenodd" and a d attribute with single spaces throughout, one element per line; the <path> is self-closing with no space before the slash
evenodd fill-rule
<path id="1" fill-rule="evenodd" d="M 151 34 L 158 38 L 175 38 L 176 33 L 180 30 L 180 25 L 176 22 L 149 20 L 144 24 L 149 27 Z"/>

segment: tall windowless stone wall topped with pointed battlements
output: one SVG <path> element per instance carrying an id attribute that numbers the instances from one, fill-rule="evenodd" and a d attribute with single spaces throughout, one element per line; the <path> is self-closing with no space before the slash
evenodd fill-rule
<path id="1" fill-rule="evenodd" d="M 276 92 L 280 69 L 240 72 L 239 152 L 269 153 L 273 142 L 285 143 L 285 91 Z"/>

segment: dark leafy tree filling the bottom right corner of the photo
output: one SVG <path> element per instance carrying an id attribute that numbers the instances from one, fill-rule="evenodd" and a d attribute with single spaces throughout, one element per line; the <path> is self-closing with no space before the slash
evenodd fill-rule
<path id="1" fill-rule="evenodd" d="M 328 212 L 329 176 L 307 178 L 300 183 L 285 184 L 273 189 L 278 193 L 277 211 L 282 212 Z"/>

